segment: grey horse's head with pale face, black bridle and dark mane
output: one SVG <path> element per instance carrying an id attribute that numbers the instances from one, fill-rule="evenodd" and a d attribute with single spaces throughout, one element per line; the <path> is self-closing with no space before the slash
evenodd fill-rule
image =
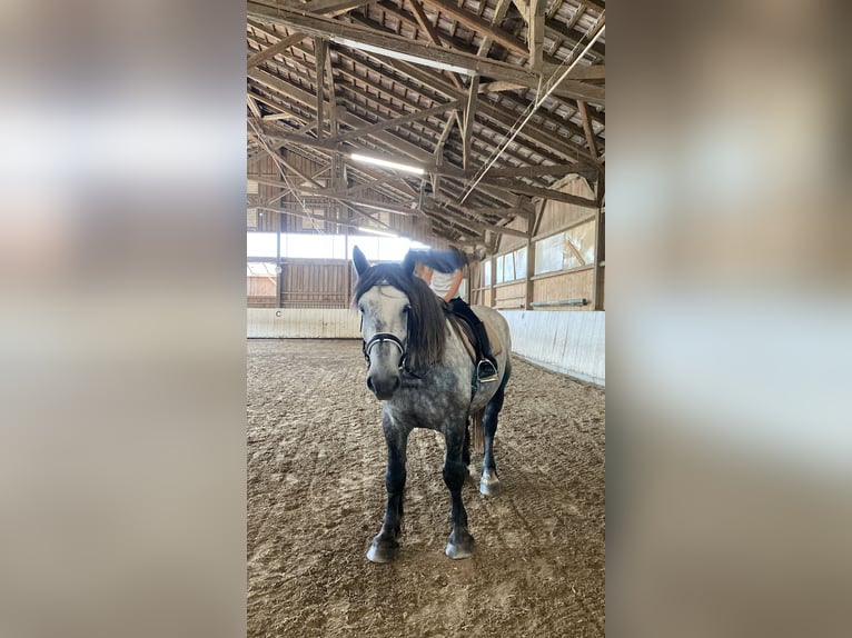
<path id="1" fill-rule="evenodd" d="M 405 372 L 422 376 L 444 357 L 443 306 L 425 281 L 414 276 L 414 261 L 370 266 L 356 246 L 358 273 L 354 301 L 361 313 L 367 387 L 388 400 Z"/>

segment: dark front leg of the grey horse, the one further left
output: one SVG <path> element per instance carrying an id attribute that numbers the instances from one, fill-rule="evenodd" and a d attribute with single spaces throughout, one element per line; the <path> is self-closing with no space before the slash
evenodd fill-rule
<path id="1" fill-rule="evenodd" d="M 405 460 L 408 431 L 394 426 L 390 418 L 382 416 L 387 443 L 387 471 L 385 487 L 387 488 L 387 507 L 382 529 L 367 551 L 367 558 L 373 562 L 390 562 L 399 548 L 402 536 L 403 500 L 405 497 Z"/>

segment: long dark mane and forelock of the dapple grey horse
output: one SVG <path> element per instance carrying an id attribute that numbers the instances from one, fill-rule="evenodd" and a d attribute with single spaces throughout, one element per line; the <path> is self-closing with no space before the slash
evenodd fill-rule
<path id="1" fill-rule="evenodd" d="M 361 296 L 374 286 L 393 286 L 408 297 L 408 358 L 409 372 L 422 376 L 429 366 L 444 359 L 447 342 L 447 306 L 438 299 L 428 285 L 410 270 L 397 263 L 378 263 L 358 278 L 353 296 L 358 303 Z"/>

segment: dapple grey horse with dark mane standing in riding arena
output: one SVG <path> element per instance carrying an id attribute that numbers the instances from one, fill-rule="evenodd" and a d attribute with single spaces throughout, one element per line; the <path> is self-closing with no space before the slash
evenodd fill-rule
<path id="1" fill-rule="evenodd" d="M 387 508 L 367 552 L 374 562 L 389 562 L 399 547 L 406 447 L 414 428 L 436 430 L 446 441 L 443 476 L 453 504 L 447 556 L 459 559 L 474 552 L 462 486 L 470 461 L 469 420 L 479 412 L 485 439 L 479 491 L 494 495 L 499 489 L 494 435 L 512 371 L 508 325 L 496 310 L 473 307 L 491 328 L 492 340 L 498 341 L 492 345 L 497 379 L 481 382 L 462 340 L 459 319 L 414 275 L 417 261 L 452 272 L 459 266 L 458 259 L 459 253 L 453 251 L 410 251 L 402 263 L 370 266 L 358 247 L 353 253 L 358 273 L 354 302 L 361 313 L 367 387 L 382 401 L 387 442 Z"/>

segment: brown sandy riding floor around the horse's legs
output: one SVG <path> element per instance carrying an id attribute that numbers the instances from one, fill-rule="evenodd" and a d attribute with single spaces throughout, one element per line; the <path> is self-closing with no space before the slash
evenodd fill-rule
<path id="1" fill-rule="evenodd" d="M 364 372 L 356 340 L 249 341 L 248 635 L 603 636 L 603 389 L 515 361 L 503 491 L 463 489 L 467 560 L 444 555 L 443 441 L 415 430 L 399 556 L 374 565 L 387 455 Z"/>

